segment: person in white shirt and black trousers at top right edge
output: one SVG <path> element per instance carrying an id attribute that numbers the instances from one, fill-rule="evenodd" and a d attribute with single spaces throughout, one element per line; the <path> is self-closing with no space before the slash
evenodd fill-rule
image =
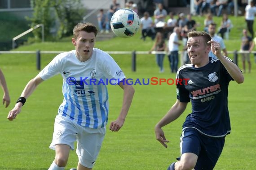
<path id="1" fill-rule="evenodd" d="M 256 7 L 254 6 L 253 0 L 245 7 L 245 21 L 247 23 L 247 29 L 254 38 L 253 22 L 256 14 Z"/>

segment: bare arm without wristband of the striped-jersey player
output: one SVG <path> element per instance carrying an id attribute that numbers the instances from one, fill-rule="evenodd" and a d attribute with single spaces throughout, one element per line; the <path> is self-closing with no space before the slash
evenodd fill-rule
<path id="1" fill-rule="evenodd" d="M 118 132 L 119 129 L 124 125 L 124 121 L 125 121 L 126 115 L 128 114 L 128 110 L 132 104 L 132 98 L 135 92 L 132 85 L 128 85 L 127 83 L 123 84 L 122 82 L 119 82 L 119 86 L 122 89 L 124 89 L 123 106 L 118 118 L 115 121 L 110 123 L 109 129 L 113 132 Z"/>

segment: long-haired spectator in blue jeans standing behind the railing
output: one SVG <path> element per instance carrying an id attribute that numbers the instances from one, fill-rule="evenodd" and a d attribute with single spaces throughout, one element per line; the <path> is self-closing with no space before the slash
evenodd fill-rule
<path id="1" fill-rule="evenodd" d="M 155 42 L 154 45 L 152 46 L 151 51 L 157 51 L 157 52 L 162 52 L 164 51 L 166 48 L 166 44 L 163 38 L 163 34 L 158 32 L 156 33 L 156 37 L 155 37 Z M 164 72 L 163 70 L 163 58 L 164 58 L 164 54 L 156 54 L 156 63 L 160 68 L 159 72 Z"/>

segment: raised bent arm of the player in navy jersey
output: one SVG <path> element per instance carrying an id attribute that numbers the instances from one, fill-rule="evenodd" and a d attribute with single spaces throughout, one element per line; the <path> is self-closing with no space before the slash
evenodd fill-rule
<path id="1" fill-rule="evenodd" d="M 229 72 L 230 76 L 237 82 L 237 83 L 243 83 L 244 76 L 241 72 L 241 70 L 238 68 L 236 64 L 231 62 L 229 59 L 225 58 L 223 55 L 221 55 L 221 47 L 220 44 L 216 41 L 209 41 L 208 43 L 211 43 L 212 46 L 212 53 L 216 55 L 216 57 L 221 61 L 221 63 L 224 65 L 226 70 Z"/>

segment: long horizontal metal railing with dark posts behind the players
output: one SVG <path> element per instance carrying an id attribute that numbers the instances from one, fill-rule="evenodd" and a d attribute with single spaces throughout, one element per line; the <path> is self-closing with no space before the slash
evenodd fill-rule
<path id="1" fill-rule="evenodd" d="M 66 51 L 0 51 L 0 54 L 35 54 L 36 69 L 41 70 L 41 54 L 60 54 Z M 169 54 L 166 51 L 105 51 L 108 54 L 130 54 L 132 59 L 132 72 L 136 72 L 136 58 L 137 54 L 149 55 L 149 54 Z M 179 51 L 181 55 L 182 51 Z M 249 51 L 228 51 L 228 54 L 233 54 L 233 61 L 238 64 L 238 54 L 249 53 Z M 252 54 L 256 54 L 256 51 L 252 51 Z"/>

